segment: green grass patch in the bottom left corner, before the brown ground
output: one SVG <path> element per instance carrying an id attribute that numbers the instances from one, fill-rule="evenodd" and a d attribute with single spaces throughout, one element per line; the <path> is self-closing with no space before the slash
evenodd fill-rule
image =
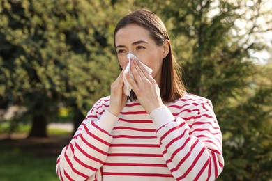
<path id="1" fill-rule="evenodd" d="M 56 157 L 37 157 L 29 152 L 1 143 L 0 175 L 2 181 L 59 180 L 55 172 Z"/>

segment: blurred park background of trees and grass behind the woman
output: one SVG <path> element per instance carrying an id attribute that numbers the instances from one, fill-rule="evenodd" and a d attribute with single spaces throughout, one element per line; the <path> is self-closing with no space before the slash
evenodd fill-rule
<path id="1" fill-rule="evenodd" d="M 189 93 L 223 135 L 218 180 L 272 180 L 272 1 L 0 0 L 0 177 L 58 180 L 56 157 L 119 74 L 116 23 L 165 22 Z"/>

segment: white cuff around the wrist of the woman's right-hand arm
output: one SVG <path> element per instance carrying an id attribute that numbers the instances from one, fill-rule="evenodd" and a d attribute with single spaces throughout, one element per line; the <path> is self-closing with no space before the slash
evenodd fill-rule
<path id="1" fill-rule="evenodd" d="M 175 119 L 168 107 L 159 107 L 153 110 L 149 115 L 156 129 L 160 129 L 160 127 Z"/>

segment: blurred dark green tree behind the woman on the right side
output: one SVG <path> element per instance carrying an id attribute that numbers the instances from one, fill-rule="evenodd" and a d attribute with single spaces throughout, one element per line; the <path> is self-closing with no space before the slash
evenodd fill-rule
<path id="1" fill-rule="evenodd" d="M 272 178 L 272 84 L 254 78 L 262 72 L 252 54 L 267 48 L 259 36 L 272 28 L 267 2 L 137 1 L 165 19 L 188 92 L 213 102 L 225 155 L 218 180 Z"/>

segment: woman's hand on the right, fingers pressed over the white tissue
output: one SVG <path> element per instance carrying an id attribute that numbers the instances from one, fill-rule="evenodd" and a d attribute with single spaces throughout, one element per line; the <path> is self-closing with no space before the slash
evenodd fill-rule
<path id="1" fill-rule="evenodd" d="M 126 74 L 126 77 L 146 112 L 151 113 L 154 109 L 165 106 L 160 97 L 160 88 L 156 80 L 144 69 L 139 61 L 131 60 L 130 63 L 134 80 L 129 74 Z"/>

